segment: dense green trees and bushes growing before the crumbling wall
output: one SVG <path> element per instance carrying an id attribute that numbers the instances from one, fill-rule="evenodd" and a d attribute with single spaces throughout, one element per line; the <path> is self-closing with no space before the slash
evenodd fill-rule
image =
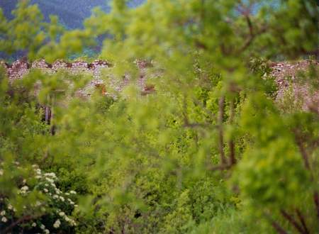
<path id="1" fill-rule="evenodd" d="M 113 79 L 155 91 L 82 100 L 85 74 L 0 68 L 1 233 L 319 232 L 319 113 L 279 107 L 268 66 L 317 50 L 315 1 L 114 0 L 81 30 L 28 1 L 13 15 L 2 52 L 53 62 L 107 33 Z M 300 77 L 318 90 L 318 69 Z"/>

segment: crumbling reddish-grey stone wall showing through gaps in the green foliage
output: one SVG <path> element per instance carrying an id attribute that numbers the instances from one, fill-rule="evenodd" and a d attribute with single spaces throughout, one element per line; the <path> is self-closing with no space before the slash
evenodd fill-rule
<path id="1" fill-rule="evenodd" d="M 52 65 L 47 64 L 45 60 L 38 60 L 29 64 L 26 60 L 17 60 L 12 65 L 8 65 L 4 62 L 0 62 L 6 68 L 6 72 L 9 76 L 9 81 L 13 82 L 15 79 L 22 79 L 25 74 L 29 72 L 31 68 L 41 69 L 48 74 L 57 72 L 58 70 L 65 70 L 71 74 L 80 74 L 86 72 L 91 74 L 92 79 L 87 86 L 78 91 L 78 95 L 82 97 L 89 97 L 91 95 L 90 90 L 94 90 L 96 87 L 102 88 L 103 94 L 107 93 L 108 88 L 105 87 L 103 82 L 103 69 L 109 69 L 112 65 L 106 61 L 96 60 L 92 63 L 87 62 L 63 62 L 57 60 Z M 136 62 L 136 65 L 140 69 L 140 78 L 137 81 L 138 87 L 140 87 L 142 94 L 148 94 L 154 91 L 154 87 L 145 86 L 145 69 L 150 65 L 144 61 Z M 308 84 L 298 82 L 296 77 L 298 72 L 306 70 L 310 65 L 313 65 L 316 69 L 319 69 L 318 61 L 303 60 L 299 62 L 274 62 L 272 63 L 272 76 L 276 79 L 279 90 L 276 95 L 276 101 L 281 101 L 287 91 L 292 92 L 293 101 L 302 102 L 302 108 L 304 110 L 318 111 L 319 113 L 319 90 L 310 90 Z M 128 84 L 130 77 L 125 75 L 121 81 L 111 80 L 111 89 L 121 91 L 125 85 Z M 319 77 L 317 82 L 319 83 Z"/>

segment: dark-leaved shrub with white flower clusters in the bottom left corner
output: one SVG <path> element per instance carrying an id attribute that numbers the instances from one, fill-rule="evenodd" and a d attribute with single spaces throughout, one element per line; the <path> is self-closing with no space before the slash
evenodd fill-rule
<path id="1" fill-rule="evenodd" d="M 6 169 L 0 169 L 0 179 L 5 176 Z M 16 194 L 8 196 L 0 190 L 1 233 L 73 233 L 77 193 L 61 191 L 57 180 L 55 173 L 43 173 L 37 165 L 26 179 L 12 177 Z"/>

